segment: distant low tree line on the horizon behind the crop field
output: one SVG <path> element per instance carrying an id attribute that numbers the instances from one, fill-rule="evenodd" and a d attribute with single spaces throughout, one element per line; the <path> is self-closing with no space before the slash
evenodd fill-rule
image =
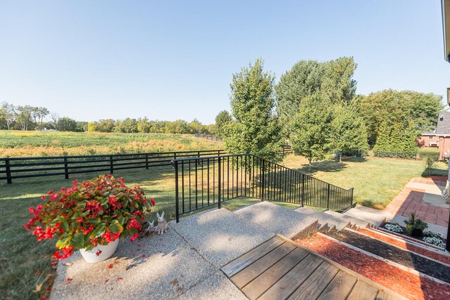
<path id="1" fill-rule="evenodd" d="M 214 124 L 205 125 L 193 119 L 186 122 L 152 121 L 147 117 L 133 119 L 101 119 L 96 122 L 80 122 L 69 117 L 59 117 L 46 107 L 30 105 L 15 106 L 11 103 L 0 105 L 0 129 L 7 130 L 58 130 L 58 131 L 97 131 L 122 133 L 214 133 Z"/>

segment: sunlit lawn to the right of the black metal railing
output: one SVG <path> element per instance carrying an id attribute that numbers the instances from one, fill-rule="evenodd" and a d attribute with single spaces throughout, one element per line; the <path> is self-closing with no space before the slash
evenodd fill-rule
<path id="1" fill-rule="evenodd" d="M 378 209 L 385 208 L 412 177 L 428 176 L 425 162 L 420 160 L 356 157 L 340 163 L 331 159 L 313 162 L 309 170 L 307 159 L 289 155 L 282 164 L 341 188 L 354 188 L 355 202 Z M 430 171 L 432 175 L 447 173 L 442 162 Z"/>

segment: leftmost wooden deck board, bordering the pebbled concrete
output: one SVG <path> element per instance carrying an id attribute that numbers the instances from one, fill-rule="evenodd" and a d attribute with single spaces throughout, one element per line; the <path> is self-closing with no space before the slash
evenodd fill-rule
<path id="1" fill-rule="evenodd" d="M 281 240 L 279 237 L 272 237 L 270 240 L 267 240 L 266 242 L 260 244 L 252 251 L 244 254 L 243 256 L 240 256 L 234 261 L 231 261 L 231 263 L 222 267 L 222 270 L 227 276 L 231 277 L 238 273 L 240 270 L 247 268 L 248 266 L 250 266 L 250 264 L 254 263 L 262 256 L 271 252 L 273 249 L 280 246 L 284 242 L 285 241 Z"/>

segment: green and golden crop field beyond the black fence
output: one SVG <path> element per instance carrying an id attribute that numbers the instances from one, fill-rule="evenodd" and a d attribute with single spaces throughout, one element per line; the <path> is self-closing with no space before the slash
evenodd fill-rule
<path id="1" fill-rule="evenodd" d="M 221 143 L 186 134 L 0 131 L 0 157 L 212 150 Z"/>

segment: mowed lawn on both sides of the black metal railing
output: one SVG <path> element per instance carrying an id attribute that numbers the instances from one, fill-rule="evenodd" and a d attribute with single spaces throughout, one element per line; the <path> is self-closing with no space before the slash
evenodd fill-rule
<path id="1" fill-rule="evenodd" d="M 385 207 L 411 177 L 422 176 L 425 170 L 425 163 L 421 161 L 372 157 L 348 159 L 342 164 L 335 161 L 315 162 L 309 170 L 306 159 L 290 155 L 285 158 L 283 164 L 342 188 L 353 187 L 356 202 L 378 208 Z M 446 171 L 445 164 L 438 164 L 432 174 L 445 175 Z M 77 179 L 84 180 L 96 175 L 98 174 L 84 174 Z M 115 176 L 124 176 L 127 185 L 140 185 L 148 197 L 155 198 L 157 204 L 148 219 L 155 219 L 156 211 L 165 211 L 168 219 L 174 219 L 172 167 L 122 171 L 117 172 Z M 65 181 L 59 177 L 18 179 L 12 185 L 0 183 L 2 298 L 33 299 L 48 293 L 46 288 L 54 275 L 50 263 L 54 245 L 52 242 L 36 242 L 34 237 L 25 231 L 23 224 L 29 218 L 28 207 L 39 204 L 42 194 L 70 184 L 70 180 Z M 257 200 L 240 198 L 226 202 L 224 207 L 236 209 L 255 201 Z M 40 285 L 39 292 L 34 292 Z"/>

